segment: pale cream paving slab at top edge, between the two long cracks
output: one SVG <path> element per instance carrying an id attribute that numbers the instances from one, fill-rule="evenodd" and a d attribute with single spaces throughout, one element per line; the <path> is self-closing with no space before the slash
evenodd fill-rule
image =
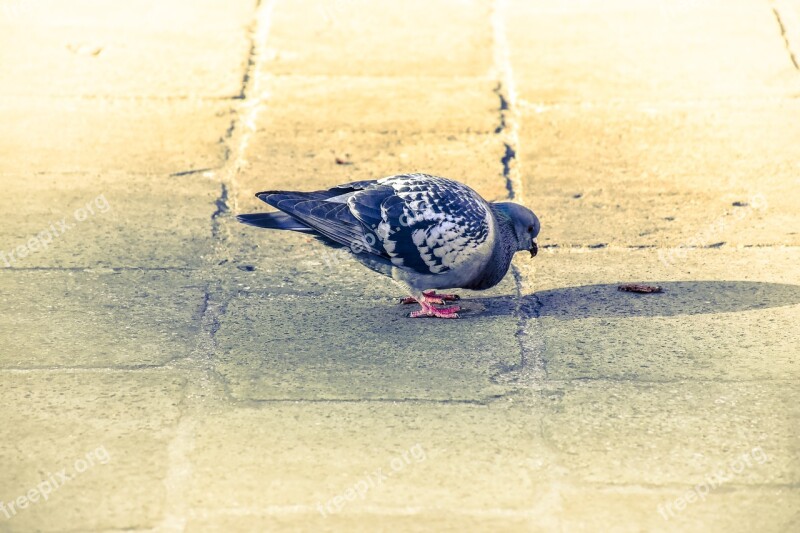
<path id="1" fill-rule="evenodd" d="M 450 78 L 492 67 L 489 6 L 457 0 L 281 2 L 268 44 L 276 74 Z"/>

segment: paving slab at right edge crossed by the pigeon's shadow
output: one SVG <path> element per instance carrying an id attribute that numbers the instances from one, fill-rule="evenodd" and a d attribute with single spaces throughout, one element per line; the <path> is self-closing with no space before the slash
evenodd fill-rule
<path id="1" fill-rule="evenodd" d="M 674 263 L 656 250 L 545 252 L 518 263 L 533 292 L 528 335 L 556 380 L 797 379 L 799 259 L 796 248 L 693 250 Z"/>

